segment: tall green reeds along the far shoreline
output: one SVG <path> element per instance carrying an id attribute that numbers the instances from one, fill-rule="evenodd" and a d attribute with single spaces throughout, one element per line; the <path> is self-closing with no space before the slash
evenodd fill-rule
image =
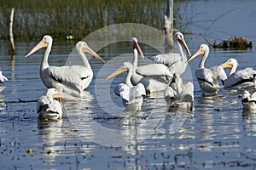
<path id="1" fill-rule="evenodd" d="M 178 3 L 174 2 L 174 28 L 183 31 Z M 45 34 L 55 39 L 79 40 L 104 26 L 120 23 L 138 23 L 163 30 L 166 12 L 166 0 L 10 0 L 0 4 L 0 39 L 9 39 L 13 7 L 14 37 L 26 40 Z"/>

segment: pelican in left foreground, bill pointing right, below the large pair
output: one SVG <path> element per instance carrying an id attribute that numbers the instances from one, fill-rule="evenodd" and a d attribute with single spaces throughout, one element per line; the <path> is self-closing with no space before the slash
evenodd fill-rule
<path id="1" fill-rule="evenodd" d="M 61 103 L 56 98 L 79 100 L 68 94 L 63 94 L 55 88 L 48 88 L 46 94 L 38 99 L 38 118 L 60 120 L 62 117 Z"/>

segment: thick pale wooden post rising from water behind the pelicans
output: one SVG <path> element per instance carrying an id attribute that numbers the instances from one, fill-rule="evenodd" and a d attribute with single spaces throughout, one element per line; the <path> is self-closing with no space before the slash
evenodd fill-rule
<path id="1" fill-rule="evenodd" d="M 173 52 L 173 0 L 166 0 L 165 14 L 165 50 L 166 53 Z"/>

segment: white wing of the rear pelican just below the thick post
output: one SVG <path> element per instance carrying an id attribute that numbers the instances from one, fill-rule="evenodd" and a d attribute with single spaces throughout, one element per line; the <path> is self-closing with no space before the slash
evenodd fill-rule
<path id="1" fill-rule="evenodd" d="M 158 54 L 151 58 L 154 64 L 170 66 L 181 59 L 180 54 Z"/>

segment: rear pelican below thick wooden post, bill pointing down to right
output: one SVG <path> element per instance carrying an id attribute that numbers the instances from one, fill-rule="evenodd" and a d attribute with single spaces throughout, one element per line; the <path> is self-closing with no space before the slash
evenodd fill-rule
<path id="1" fill-rule="evenodd" d="M 174 40 L 177 42 L 179 54 L 158 54 L 152 57 L 152 59 L 154 60 L 154 63 L 166 65 L 169 67 L 170 71 L 182 75 L 188 65 L 186 62 L 186 54 L 183 52 L 183 47 L 186 49 L 189 56 L 191 56 L 191 54 L 187 43 L 184 40 L 183 33 L 177 32 L 174 35 Z"/>

